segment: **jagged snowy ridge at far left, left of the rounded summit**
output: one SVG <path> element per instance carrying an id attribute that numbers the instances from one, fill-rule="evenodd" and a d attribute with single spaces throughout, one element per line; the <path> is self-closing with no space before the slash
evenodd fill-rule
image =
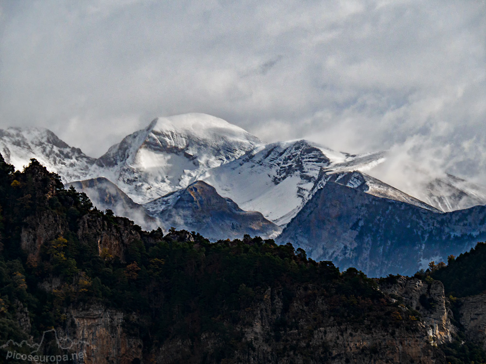
<path id="1" fill-rule="evenodd" d="M 95 162 L 81 149 L 70 147 L 44 128 L 0 129 L 0 153 L 5 162 L 18 170 L 35 158 L 48 170 L 59 174 L 63 182 L 84 179 Z"/>

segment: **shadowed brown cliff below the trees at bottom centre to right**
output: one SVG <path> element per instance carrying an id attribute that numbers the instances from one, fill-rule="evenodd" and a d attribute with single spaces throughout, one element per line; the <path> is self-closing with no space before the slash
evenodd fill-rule
<path id="1" fill-rule="evenodd" d="M 442 355 L 426 340 L 420 325 L 387 330 L 374 322 L 336 322 L 329 316 L 329 305 L 317 297 L 312 287 L 298 290 L 284 313 L 282 295 L 268 289 L 264 299 L 249 315 L 251 325 L 243 328 L 245 339 L 255 346 L 255 355 L 238 353 L 239 363 L 441 363 Z M 275 335 L 275 323 L 285 317 L 297 326 Z M 270 340 L 268 340 L 271 338 Z M 284 352 L 282 357 L 280 353 Z"/>

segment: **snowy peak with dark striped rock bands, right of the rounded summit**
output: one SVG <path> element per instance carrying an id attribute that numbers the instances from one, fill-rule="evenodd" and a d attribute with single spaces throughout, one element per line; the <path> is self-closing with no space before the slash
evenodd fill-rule
<path id="1" fill-rule="evenodd" d="M 201 179 L 243 209 L 260 211 L 283 226 L 308 200 L 323 168 L 329 172 L 366 169 L 382 158 L 382 153 L 351 155 L 295 140 L 261 145 L 209 170 Z"/>

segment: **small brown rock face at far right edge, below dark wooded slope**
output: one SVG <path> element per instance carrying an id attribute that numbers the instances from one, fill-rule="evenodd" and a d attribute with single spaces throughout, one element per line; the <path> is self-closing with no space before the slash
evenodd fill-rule
<path id="1" fill-rule="evenodd" d="M 459 321 L 464 325 L 466 337 L 486 349 L 486 294 L 460 300 Z"/>

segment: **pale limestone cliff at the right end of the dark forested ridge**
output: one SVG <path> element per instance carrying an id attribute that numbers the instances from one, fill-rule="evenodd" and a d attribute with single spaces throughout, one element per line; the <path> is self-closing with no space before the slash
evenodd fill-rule
<path id="1" fill-rule="evenodd" d="M 403 304 L 418 311 L 420 322 L 427 331 L 433 344 L 444 344 L 452 341 L 457 328 L 451 324 L 452 311 L 444 295 L 441 281 L 426 283 L 416 278 L 400 276 L 396 283 L 383 283 L 383 292 L 398 296 Z"/>

